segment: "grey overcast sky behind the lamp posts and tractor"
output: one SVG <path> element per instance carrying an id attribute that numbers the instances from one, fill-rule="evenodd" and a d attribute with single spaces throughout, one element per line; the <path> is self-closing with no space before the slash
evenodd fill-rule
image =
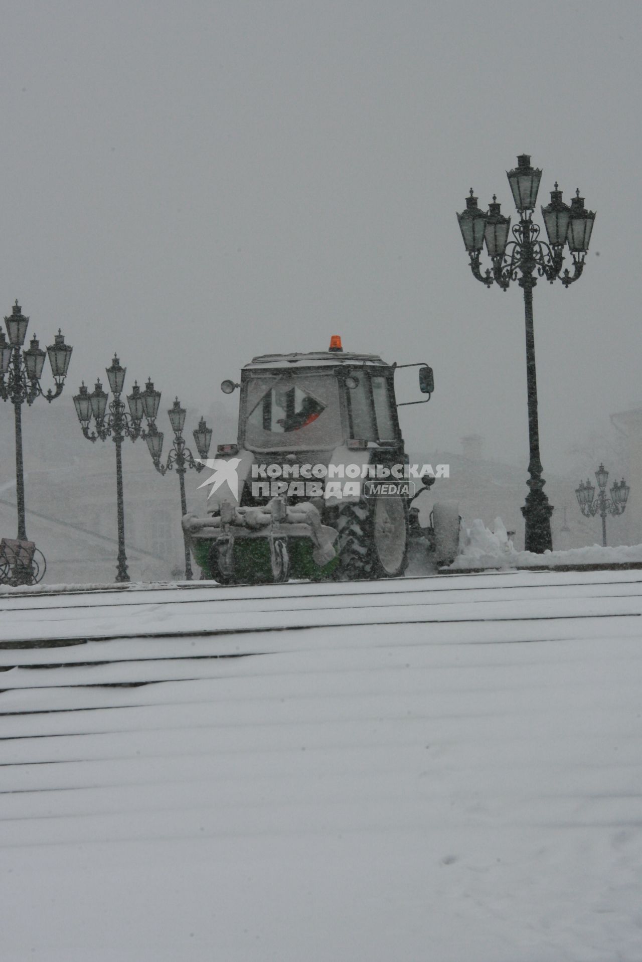
<path id="1" fill-rule="evenodd" d="M 62 326 L 73 392 L 116 350 L 207 410 L 253 355 L 340 334 L 432 364 L 412 445 L 479 432 L 526 467 L 522 292 L 475 281 L 455 216 L 470 187 L 514 215 L 524 152 L 542 203 L 558 180 L 598 212 L 580 282 L 534 291 L 545 469 L 642 405 L 637 0 L 2 12 L 0 307 Z"/>

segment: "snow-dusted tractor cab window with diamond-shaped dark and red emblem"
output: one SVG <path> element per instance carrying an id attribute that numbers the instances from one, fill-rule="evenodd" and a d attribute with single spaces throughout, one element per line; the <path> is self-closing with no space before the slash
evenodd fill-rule
<path id="1" fill-rule="evenodd" d="M 327 448 L 341 441 L 339 394 L 333 375 L 252 377 L 245 396 L 249 448 Z"/>

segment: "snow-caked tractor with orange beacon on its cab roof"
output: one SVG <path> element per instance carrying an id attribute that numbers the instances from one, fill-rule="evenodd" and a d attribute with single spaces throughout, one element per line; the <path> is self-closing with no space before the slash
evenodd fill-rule
<path id="1" fill-rule="evenodd" d="M 422 527 L 415 499 L 434 476 L 410 466 L 395 370 L 417 367 L 430 400 L 432 368 L 343 351 L 266 354 L 241 370 L 238 438 L 217 445 L 208 514 L 183 527 L 204 577 L 220 584 L 394 578 L 408 546 L 445 564 L 457 554 L 457 505 L 434 504 Z M 430 468 L 430 466 L 423 466 Z"/>

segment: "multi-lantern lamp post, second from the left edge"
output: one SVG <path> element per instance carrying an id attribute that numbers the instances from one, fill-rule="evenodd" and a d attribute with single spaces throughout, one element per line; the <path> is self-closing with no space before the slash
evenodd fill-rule
<path id="1" fill-rule="evenodd" d="M 127 557 L 125 555 L 125 508 L 123 503 L 123 464 L 121 447 L 125 438 L 136 441 L 136 438 L 146 438 L 147 433 L 142 428 L 143 417 L 147 419 L 149 431 L 155 429 L 154 420 L 159 411 L 160 391 L 154 390 L 151 380 L 140 391 L 135 382 L 132 393 L 127 395 L 130 413 L 125 411 L 125 405 L 120 394 L 125 383 L 127 368 L 120 366 L 120 361 L 113 355 L 111 367 L 107 368 L 113 400 L 109 405 L 110 413 L 106 415 L 109 394 L 103 391 L 100 381 L 96 381 L 94 390 L 89 393 L 83 382 L 79 392 L 74 397 L 76 414 L 83 428 L 87 441 L 95 443 L 100 439 L 111 440 L 116 446 L 116 506 L 118 516 L 118 566 L 116 581 L 129 581 L 127 571 Z M 94 430 L 89 433 L 89 422 L 94 418 Z"/>

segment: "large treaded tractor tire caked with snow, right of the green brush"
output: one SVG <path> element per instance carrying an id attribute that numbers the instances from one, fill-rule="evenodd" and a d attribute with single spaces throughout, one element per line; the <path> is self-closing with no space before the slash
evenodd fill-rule
<path id="1" fill-rule="evenodd" d="M 386 503 L 387 502 L 387 503 Z M 382 541 L 382 514 L 391 509 L 401 539 L 388 550 Z M 339 563 L 338 581 L 401 577 L 407 568 L 409 541 L 407 502 L 404 498 L 361 498 L 339 505 L 335 519 Z"/>

